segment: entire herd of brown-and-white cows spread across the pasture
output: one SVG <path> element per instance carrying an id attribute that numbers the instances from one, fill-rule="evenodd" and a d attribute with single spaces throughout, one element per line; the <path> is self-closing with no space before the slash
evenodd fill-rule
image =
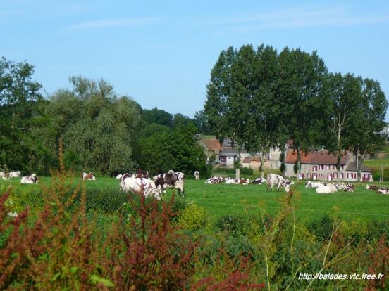
<path id="1" fill-rule="evenodd" d="M 20 177 L 20 171 L 13 172 L 0 172 L 0 179 L 12 179 Z M 195 171 L 195 179 L 199 180 L 200 173 Z M 82 180 L 95 181 L 96 176 L 92 172 L 82 173 Z M 152 179 L 149 178 L 149 172 L 139 170 L 137 174 L 119 174 L 116 176 L 116 179 L 119 180 L 119 188 L 125 193 L 142 193 L 145 196 L 154 195 L 157 199 L 161 199 L 161 194 L 166 194 L 166 188 L 175 188 L 178 190 L 178 193 L 184 196 L 184 183 L 185 176 L 182 172 L 174 172 L 173 170 L 168 171 L 168 173 L 158 174 Z M 23 176 L 20 180 L 20 183 L 23 184 L 33 184 L 39 183 L 38 176 L 31 174 L 30 176 Z M 205 181 L 208 184 L 238 184 L 238 185 L 249 185 L 257 184 L 261 185 L 266 183 L 266 190 L 270 188 L 273 190 L 273 187 L 276 186 L 277 191 L 280 191 L 280 188 L 284 188 L 286 192 L 289 192 L 290 186 L 294 184 L 293 181 L 285 179 L 283 176 L 277 174 L 268 174 L 266 179 L 258 178 L 250 181 L 249 179 L 233 179 L 231 177 L 223 176 L 214 176 Z M 344 192 L 354 192 L 354 185 L 351 183 L 327 183 L 321 181 L 307 181 L 305 183 L 306 188 L 316 189 L 316 193 L 319 194 L 330 194 L 338 191 Z M 378 194 L 389 194 L 389 188 L 379 187 L 373 185 L 366 185 L 366 190 L 376 190 Z"/>

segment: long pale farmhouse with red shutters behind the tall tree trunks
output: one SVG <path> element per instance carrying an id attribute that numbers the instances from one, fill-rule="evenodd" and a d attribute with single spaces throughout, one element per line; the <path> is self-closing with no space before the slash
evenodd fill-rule
<path id="1" fill-rule="evenodd" d="M 297 152 L 290 150 L 285 159 L 285 176 L 297 176 L 293 171 L 296 160 Z M 301 153 L 300 179 L 336 180 L 338 179 L 337 161 L 338 157 L 328 153 L 328 150 L 319 150 L 307 154 Z M 340 159 L 340 180 L 357 181 L 357 164 L 354 162 L 354 156 L 350 153 L 345 153 Z M 371 170 L 363 164 L 361 166 L 361 181 L 373 181 Z"/>

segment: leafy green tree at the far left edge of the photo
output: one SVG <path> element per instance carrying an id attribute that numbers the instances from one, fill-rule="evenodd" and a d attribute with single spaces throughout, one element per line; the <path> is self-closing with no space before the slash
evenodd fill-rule
<path id="1" fill-rule="evenodd" d="M 47 173 L 56 160 L 55 131 L 33 73 L 29 63 L 0 60 L 0 164 Z"/>

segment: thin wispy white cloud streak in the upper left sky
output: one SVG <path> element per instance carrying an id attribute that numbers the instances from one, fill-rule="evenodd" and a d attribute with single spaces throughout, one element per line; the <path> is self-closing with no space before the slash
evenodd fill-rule
<path id="1" fill-rule="evenodd" d="M 122 18 L 122 19 L 111 19 L 111 20 L 95 20 L 88 22 L 75 23 L 68 27 L 67 30 L 85 30 L 85 29 L 98 29 L 103 27 L 121 27 L 121 26 L 132 26 L 142 25 L 146 23 L 156 22 L 159 17 L 148 17 L 148 18 Z"/>

